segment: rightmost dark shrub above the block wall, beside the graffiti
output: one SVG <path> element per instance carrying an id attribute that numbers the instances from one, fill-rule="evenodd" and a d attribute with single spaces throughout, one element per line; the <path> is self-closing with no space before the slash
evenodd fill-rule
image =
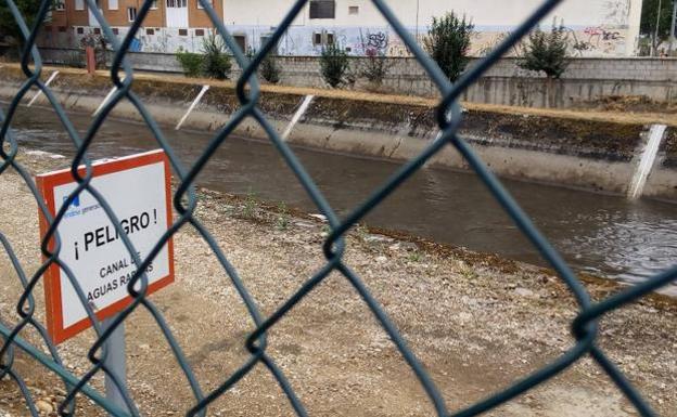
<path id="1" fill-rule="evenodd" d="M 522 48 L 518 66 L 533 71 L 544 71 L 550 79 L 560 78 L 570 64 L 569 43 L 564 26 L 552 25 L 549 32 L 537 27 Z"/>

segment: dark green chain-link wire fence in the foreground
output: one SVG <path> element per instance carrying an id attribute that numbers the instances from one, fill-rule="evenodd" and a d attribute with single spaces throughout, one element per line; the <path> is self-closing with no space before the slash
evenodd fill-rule
<path id="1" fill-rule="evenodd" d="M 550 11 L 553 10 L 561 0 L 548 0 L 545 1 L 538 9 L 536 9 L 525 21 L 507 38 L 502 41 L 488 56 L 482 60 L 478 65 L 473 66 L 468 70 L 461 79 L 456 83 L 450 83 L 445 78 L 442 70 L 437 65 L 425 54 L 425 52 L 419 47 L 413 37 L 406 30 L 393 12 L 388 9 L 386 1 L 372 0 L 373 4 L 378 8 L 385 19 L 392 25 L 394 30 L 401 38 L 404 43 L 409 48 L 412 54 L 418 58 L 420 64 L 424 67 L 425 71 L 430 75 L 436 87 L 439 89 L 443 95 L 443 100 L 439 103 L 437 110 L 437 122 L 439 125 L 440 134 L 437 140 L 432 142 L 424 152 L 419 156 L 404 165 L 395 174 L 393 174 L 384 184 L 371 194 L 362 204 L 356 207 L 345 219 L 340 219 L 332 207 L 327 203 L 323 195 L 320 193 L 310 175 L 304 169 L 304 166 L 298 161 L 289 145 L 280 138 L 274 131 L 272 126 L 266 120 L 266 117 L 261 110 L 257 107 L 260 92 L 257 81 L 257 68 L 261 64 L 265 55 L 273 48 L 278 40 L 282 37 L 286 28 L 291 25 L 295 16 L 303 10 L 307 0 L 297 0 L 294 2 L 291 10 L 282 18 L 278 25 L 274 34 L 268 39 L 261 50 L 254 55 L 251 60 L 244 56 L 240 51 L 237 42 L 229 31 L 223 26 L 223 23 L 217 16 L 216 12 L 210 5 L 209 1 L 200 0 L 204 10 L 208 14 L 212 22 L 215 24 L 216 30 L 222 36 L 227 45 L 232 51 L 234 60 L 243 69 L 241 77 L 237 83 L 237 95 L 240 102 L 239 109 L 232 115 L 230 121 L 220 129 L 212 139 L 196 162 L 190 167 L 183 166 L 179 160 L 173 148 L 169 146 L 162 129 L 153 120 L 150 113 L 145 109 L 137 94 L 133 92 L 133 74 L 131 66 L 127 62 L 125 55 L 129 50 L 129 45 L 139 31 L 142 21 L 146 16 L 152 0 L 144 0 L 143 4 L 138 11 L 136 21 L 132 23 L 129 32 L 124 40 L 119 42 L 117 37 L 113 35 L 111 26 L 103 18 L 99 8 L 94 0 L 88 0 L 90 13 L 92 13 L 101 25 L 101 29 L 104 36 L 110 40 L 113 50 L 115 51 L 112 68 L 111 80 L 114 86 L 117 87 L 116 92 L 113 94 L 108 103 L 100 110 L 94 120 L 89 126 L 85 135 L 78 134 L 73 123 L 68 119 L 64 108 L 60 105 L 52 91 L 46 87 L 40 80 L 40 74 L 42 69 L 42 63 L 40 60 L 40 53 L 36 47 L 36 37 L 40 25 L 44 22 L 44 18 L 52 4 L 52 0 L 42 0 L 39 13 L 36 18 L 34 27 L 28 28 L 26 26 L 24 17 L 21 15 L 14 0 L 4 0 L 14 16 L 16 23 L 20 25 L 23 36 L 25 38 L 25 48 L 22 54 L 22 69 L 26 76 L 26 80 L 13 97 L 8 108 L 1 114 L 2 128 L 0 136 L 2 138 L 2 147 L 0 148 L 0 155 L 2 156 L 2 165 L 0 167 L 0 174 L 7 169 L 13 168 L 23 178 L 25 183 L 30 188 L 36 201 L 39 205 L 39 209 L 42 211 L 49 222 L 49 231 L 44 236 L 41 245 L 42 253 L 46 256 L 46 261 L 41 264 L 38 271 L 33 276 L 26 276 L 22 269 L 22 264 L 12 250 L 11 243 L 5 238 L 3 234 L 0 234 L 0 242 L 12 262 L 12 266 L 15 270 L 24 291 L 22 297 L 16 303 L 16 312 L 20 316 L 20 322 L 12 328 L 0 325 L 0 334 L 3 338 L 2 348 L 0 350 L 0 377 L 11 378 L 18 389 L 21 390 L 26 404 L 34 416 L 38 415 L 38 411 L 35 404 L 31 393 L 27 389 L 23 377 L 17 373 L 14 364 L 15 350 L 21 349 L 34 356 L 46 367 L 46 372 L 53 373 L 61 378 L 65 385 L 67 395 L 59 406 L 59 412 L 62 415 L 72 415 L 75 413 L 75 395 L 82 393 L 98 403 L 103 409 L 112 415 L 139 415 L 139 411 L 131 400 L 131 396 L 126 390 L 123 381 L 115 380 L 116 386 L 122 391 L 126 406 L 129 412 L 117 407 L 115 404 L 110 403 L 106 399 L 101 396 L 95 390 L 93 390 L 89 382 L 92 377 L 100 373 L 111 375 L 104 363 L 106 355 L 105 341 L 111 336 L 113 330 L 117 328 L 136 309 L 146 309 L 157 327 L 162 330 L 164 337 L 173 349 L 176 360 L 178 361 L 186 378 L 188 379 L 192 393 L 194 395 L 194 403 L 190 405 L 187 415 L 188 416 L 204 416 L 206 415 L 209 404 L 228 389 L 233 387 L 239 380 L 241 380 L 252 368 L 257 364 L 263 364 L 267 367 L 270 374 L 278 381 L 280 388 L 289 399 L 290 406 L 293 408 L 296 415 L 307 415 L 303 403 L 294 393 L 293 388 L 289 383 L 284 373 L 276 365 L 273 357 L 267 353 L 266 335 L 267 331 L 276 326 L 276 324 L 290 310 L 292 310 L 309 291 L 316 286 L 320 285 L 322 281 L 334 271 L 340 272 L 350 283 L 355 291 L 361 297 L 363 302 L 369 307 L 378 322 L 383 326 L 384 330 L 391 337 L 396 344 L 399 352 L 407 364 L 411 367 L 416 376 L 418 377 L 421 386 L 424 388 L 430 401 L 436 409 L 438 416 L 475 416 L 491 409 L 502 403 L 510 401 L 524 393 L 525 391 L 536 387 L 537 385 L 546 381 L 549 378 L 558 375 L 560 372 L 566 369 L 575 362 L 579 361 L 585 355 L 590 355 L 609 375 L 609 377 L 615 382 L 618 389 L 627 396 L 635 408 L 642 416 L 653 416 L 654 412 L 644 402 L 641 394 L 630 385 L 630 382 L 624 377 L 618 368 L 608 359 L 605 353 L 596 344 L 596 337 L 598 334 L 597 321 L 599 317 L 612 310 L 615 310 L 628 302 L 637 300 L 638 298 L 668 284 L 675 277 L 677 277 L 677 268 L 670 269 L 661 273 L 651 279 L 629 287 L 619 294 L 611 296 L 610 298 L 593 303 L 590 300 L 589 295 L 584 289 L 580 281 L 572 272 L 569 265 L 552 248 L 550 243 L 538 232 L 534 226 L 529 218 L 524 213 L 515 200 L 510 196 L 497 178 L 485 167 L 482 160 L 475 155 L 471 146 L 461 139 L 457 131 L 462 118 L 460 106 L 457 102 L 464 89 L 473 83 L 477 78 L 486 71 L 503 53 L 513 47 L 525 34 L 527 34 L 537 23 L 544 18 Z M 33 68 L 29 63 L 33 62 Z M 120 76 L 120 70 L 124 76 Z M 54 113 L 61 119 L 65 131 L 71 136 L 73 145 L 77 149 L 76 156 L 73 158 L 71 170 L 73 177 L 79 183 L 79 186 L 69 195 L 69 198 L 64 203 L 62 209 L 55 217 L 51 217 L 47 207 L 42 203 L 43 199 L 39 194 L 36 185 L 27 173 L 27 171 L 18 164 L 16 159 L 18 145 L 15 136 L 10 128 L 12 118 L 16 113 L 16 109 L 26 94 L 26 92 L 33 87 L 40 89 L 49 103 L 53 107 Z M 178 179 L 178 190 L 174 195 L 174 206 L 178 212 L 178 218 L 173 223 L 171 227 L 155 245 L 153 250 L 145 259 L 139 259 L 137 250 L 135 250 L 130 239 L 124 233 L 115 212 L 111 209 L 111 206 L 102 198 L 101 194 L 91 186 L 92 171 L 91 162 L 88 158 L 88 148 L 94 140 L 97 132 L 103 121 L 106 119 L 113 107 L 123 99 L 128 99 L 139 110 L 144 121 L 148 123 L 150 130 L 153 132 L 157 144 L 167 153 L 175 175 Z M 295 173 L 299 183 L 304 186 L 308 196 L 312 199 L 320 212 L 324 214 L 331 226 L 331 233 L 327 237 L 323 244 L 323 252 L 327 258 L 324 265 L 317 271 L 312 276 L 305 281 L 304 285 L 298 289 L 291 298 L 270 316 L 263 316 L 257 309 L 256 303 L 247 291 L 246 286 L 240 279 L 238 271 L 229 263 L 226 253 L 221 252 L 216 245 L 208 230 L 206 230 L 193 216 L 193 210 L 196 206 L 196 194 L 194 187 L 194 180 L 201 172 L 203 167 L 207 164 L 214 152 L 226 141 L 233 132 L 235 127 L 242 122 L 246 117 L 253 117 L 267 132 L 272 145 L 284 158 L 285 162 Z M 386 196 L 395 191 L 404 181 L 411 177 L 417 170 L 419 170 L 432 156 L 438 153 L 444 146 L 454 146 L 469 162 L 472 169 L 477 173 L 481 180 L 485 183 L 493 196 L 500 203 L 503 210 L 512 218 L 515 224 L 520 227 L 522 233 L 528 237 L 531 243 L 538 248 L 542 257 L 549 262 L 549 264 L 557 271 L 559 277 L 566 284 L 571 292 L 574 295 L 578 303 L 579 313 L 572 323 L 572 333 L 576 339 L 576 343 L 557 360 L 549 365 L 538 369 L 532 375 L 524 377 L 522 380 L 506 388 L 500 392 L 496 392 L 485 400 L 465 408 L 462 411 L 450 412 L 447 405 L 443 401 L 439 390 L 430 378 L 429 374 L 417 360 L 411 350 L 407 347 L 407 342 L 399 335 L 396 326 L 388 320 L 379 302 L 370 295 L 369 290 L 360 279 L 360 277 L 353 272 L 344 262 L 343 255 L 345 251 L 345 234 L 346 232 L 358 221 L 360 221 L 366 214 L 368 214 L 373 208 L 375 208 Z M 80 175 L 78 173 L 78 166 L 85 165 L 87 167 L 86 174 Z M 106 214 L 113 221 L 119 236 L 122 237 L 130 256 L 133 257 L 136 263 L 140 265 L 138 272 L 129 283 L 127 290 L 133 298 L 133 302 L 127 307 L 112 323 L 110 327 L 103 329 L 95 320 L 94 313 L 86 301 L 82 290 L 77 285 L 73 273 L 69 271 L 68 265 L 64 264 L 60 259 L 60 244 L 59 234 L 56 233 L 56 226 L 64 217 L 64 213 L 69 204 L 84 191 L 89 192 L 94 196 L 101 207 L 105 210 Z M 171 330 L 164 322 L 162 313 L 158 309 L 145 297 L 148 289 L 148 276 L 143 271 L 152 262 L 154 257 L 158 253 L 162 246 L 167 239 L 174 235 L 180 227 L 190 225 L 194 227 L 204 240 L 210 246 L 218 261 L 223 270 L 228 273 L 232 285 L 239 292 L 242 302 L 246 305 L 248 313 L 255 324 L 252 333 L 246 340 L 246 349 L 250 352 L 247 361 L 240 366 L 232 375 L 225 376 L 223 381 L 210 392 L 203 392 L 200 385 L 193 375 L 193 370 L 183 355 L 181 348 L 171 334 Z M 49 249 L 48 242 L 53 239 L 56 244 L 53 250 Z M 91 346 L 88 352 L 88 359 L 91 361 L 91 367 L 82 376 L 82 378 L 76 378 L 69 372 L 67 372 L 60 359 L 56 348 L 50 342 L 49 337 L 42 325 L 35 318 L 36 303 L 34 300 L 33 291 L 36 285 L 40 282 L 43 273 L 47 269 L 58 264 L 61 266 L 68 276 L 71 283 L 75 286 L 82 305 L 87 310 L 89 320 L 91 321 L 95 334 L 98 336 L 95 342 Z M 140 289 L 135 290 L 136 284 L 140 283 Z M 23 339 L 20 334 L 27 326 L 35 328 L 43 342 L 49 348 L 49 355 L 43 354 L 37 347 L 28 343 Z M 114 376 L 111 375 L 113 379 Z"/>

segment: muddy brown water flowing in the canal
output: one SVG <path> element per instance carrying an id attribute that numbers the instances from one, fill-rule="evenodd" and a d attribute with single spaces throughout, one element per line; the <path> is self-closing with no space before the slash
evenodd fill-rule
<path id="1" fill-rule="evenodd" d="M 91 116 L 72 114 L 78 129 Z M 52 112 L 21 109 L 13 123 L 25 149 L 71 157 L 73 143 Z M 164 127 L 171 146 L 188 166 L 210 135 Z M 108 119 L 92 146 L 94 158 L 156 148 L 149 129 L 129 120 Z M 368 197 L 399 162 L 294 148 L 329 203 L 340 214 Z M 232 194 L 284 201 L 317 212 L 292 171 L 267 142 L 230 138 L 215 153 L 200 185 Z M 503 181 L 535 224 L 577 270 L 625 282 L 641 281 L 677 263 L 677 205 L 628 201 L 622 196 Z M 381 204 L 366 222 L 437 242 L 495 252 L 545 265 L 538 251 L 499 208 L 472 173 L 425 168 Z M 669 288 L 677 294 L 677 285 Z"/>

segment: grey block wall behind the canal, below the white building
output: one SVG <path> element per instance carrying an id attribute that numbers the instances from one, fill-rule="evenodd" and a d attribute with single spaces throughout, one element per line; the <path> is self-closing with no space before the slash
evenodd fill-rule
<path id="1" fill-rule="evenodd" d="M 194 29 L 191 29 L 194 30 Z M 192 31 L 191 34 L 192 35 Z M 200 38 L 186 37 L 188 47 L 200 44 Z M 74 51 L 41 50 L 48 63 L 68 62 Z M 180 73 L 173 54 L 129 53 L 135 68 Z M 324 88 L 319 63 L 310 56 L 279 57 L 282 83 Z M 359 73 L 365 58 L 353 58 L 352 67 Z M 389 58 L 391 69 L 380 91 L 435 95 L 427 76 L 413 58 Z M 472 65 L 472 64 L 471 64 Z M 233 69 L 234 78 L 239 69 Z M 677 60 L 661 58 L 574 58 L 561 80 L 548 82 L 542 76 L 520 69 L 515 60 L 503 58 L 462 95 L 462 100 L 501 105 L 572 107 L 609 95 L 646 96 L 660 102 L 677 102 Z M 373 86 L 359 79 L 357 89 Z"/>

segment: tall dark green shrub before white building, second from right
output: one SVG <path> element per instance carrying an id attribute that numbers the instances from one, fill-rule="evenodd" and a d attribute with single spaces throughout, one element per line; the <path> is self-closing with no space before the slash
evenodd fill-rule
<path id="1" fill-rule="evenodd" d="M 474 28 L 472 22 L 465 21 L 465 16 L 458 18 L 454 12 L 440 18 L 433 17 L 423 47 L 451 81 L 456 81 L 468 65 Z"/>

